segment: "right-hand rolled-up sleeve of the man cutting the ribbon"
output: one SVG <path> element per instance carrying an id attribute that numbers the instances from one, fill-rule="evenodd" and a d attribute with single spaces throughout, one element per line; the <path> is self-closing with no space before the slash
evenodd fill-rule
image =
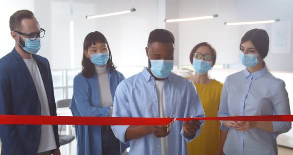
<path id="1" fill-rule="evenodd" d="M 193 88 L 191 88 L 191 90 L 192 90 L 191 91 L 191 100 L 190 100 L 190 103 L 188 103 L 189 104 L 188 116 L 190 116 L 192 118 L 195 118 L 195 117 L 206 117 L 205 112 L 204 112 L 204 109 L 203 109 L 203 105 L 202 105 L 202 102 L 200 100 L 200 97 L 199 97 L 199 95 L 197 93 L 197 90 L 196 90 L 196 88 L 195 88 L 195 86 L 193 84 L 192 84 L 192 87 Z M 202 127 L 204 126 L 205 121 L 204 120 L 200 120 L 200 122 L 202 124 L 200 125 L 200 128 L 196 131 L 194 137 L 186 136 L 184 134 L 183 128 L 181 129 L 180 134 L 181 134 L 181 136 L 184 138 L 184 140 L 186 142 L 190 143 L 191 141 L 193 141 L 195 138 L 197 138 L 201 134 Z"/>

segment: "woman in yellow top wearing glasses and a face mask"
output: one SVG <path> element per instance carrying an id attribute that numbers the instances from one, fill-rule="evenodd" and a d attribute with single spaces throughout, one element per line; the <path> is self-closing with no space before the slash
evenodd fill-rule
<path id="1" fill-rule="evenodd" d="M 223 84 L 208 75 L 216 63 L 216 50 L 207 42 L 199 43 L 192 49 L 189 59 L 195 75 L 187 78 L 198 91 L 206 117 L 217 117 Z M 199 137 L 187 144 L 189 155 L 223 155 L 226 135 L 227 131 L 220 131 L 219 121 L 205 121 Z"/>

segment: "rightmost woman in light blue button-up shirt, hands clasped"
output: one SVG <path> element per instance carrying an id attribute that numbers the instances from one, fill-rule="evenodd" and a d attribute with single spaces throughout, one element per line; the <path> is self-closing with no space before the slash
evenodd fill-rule
<path id="1" fill-rule="evenodd" d="M 285 82 L 275 78 L 263 59 L 269 35 L 252 29 L 244 34 L 239 58 L 246 69 L 228 76 L 222 89 L 218 116 L 290 115 Z M 225 155 L 277 155 L 276 138 L 291 129 L 291 122 L 220 121 L 227 130 Z"/>

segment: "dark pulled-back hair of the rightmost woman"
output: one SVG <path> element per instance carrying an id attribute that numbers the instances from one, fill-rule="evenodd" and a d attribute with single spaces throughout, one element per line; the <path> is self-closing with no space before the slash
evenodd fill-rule
<path id="1" fill-rule="evenodd" d="M 269 35 L 266 30 L 263 29 L 252 29 L 247 31 L 241 39 L 241 43 L 239 45 L 239 49 L 241 49 L 241 44 L 250 40 L 256 50 L 258 51 L 259 55 L 262 59 L 265 59 L 269 52 Z M 266 63 L 263 60 L 263 65 L 265 66 Z"/>

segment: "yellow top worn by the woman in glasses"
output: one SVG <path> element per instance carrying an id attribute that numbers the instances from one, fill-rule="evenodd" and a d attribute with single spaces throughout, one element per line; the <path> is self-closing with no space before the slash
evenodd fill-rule
<path id="1" fill-rule="evenodd" d="M 189 79 L 189 77 L 187 77 Z M 208 84 L 194 83 L 200 96 L 206 117 L 217 117 L 223 83 L 213 79 Z M 189 155 L 215 155 L 220 145 L 220 122 L 205 121 L 202 132 L 187 143 Z"/>

